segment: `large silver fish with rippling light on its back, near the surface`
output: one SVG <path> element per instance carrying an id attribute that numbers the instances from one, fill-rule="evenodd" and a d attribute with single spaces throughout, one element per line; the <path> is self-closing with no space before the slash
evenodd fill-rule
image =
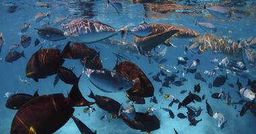
<path id="1" fill-rule="evenodd" d="M 79 18 L 73 19 L 67 25 L 63 25 L 63 28 L 65 29 L 64 36 L 71 42 L 94 43 L 115 36 L 118 33 L 121 33 L 122 38 L 125 38 L 129 25 L 116 30 L 98 21 Z"/>

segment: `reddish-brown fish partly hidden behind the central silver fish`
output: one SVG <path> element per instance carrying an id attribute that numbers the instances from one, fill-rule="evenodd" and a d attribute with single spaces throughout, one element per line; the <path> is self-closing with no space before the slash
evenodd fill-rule
<path id="1" fill-rule="evenodd" d="M 120 62 L 115 70 L 129 80 L 135 81 L 133 88 L 127 90 L 128 96 L 151 97 L 154 96 L 154 86 L 146 74 L 132 62 Z"/>

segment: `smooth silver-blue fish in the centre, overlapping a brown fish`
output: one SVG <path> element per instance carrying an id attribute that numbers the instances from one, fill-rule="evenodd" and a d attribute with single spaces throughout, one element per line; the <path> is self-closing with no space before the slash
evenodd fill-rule
<path id="1" fill-rule="evenodd" d="M 133 86 L 133 82 L 125 76 L 110 70 L 86 69 L 90 82 L 103 92 L 123 92 Z"/>

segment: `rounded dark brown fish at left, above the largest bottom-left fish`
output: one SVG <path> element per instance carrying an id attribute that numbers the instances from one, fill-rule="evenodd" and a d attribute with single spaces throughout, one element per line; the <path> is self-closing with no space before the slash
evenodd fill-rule
<path id="1" fill-rule="evenodd" d="M 39 78 L 46 78 L 57 74 L 65 60 L 61 58 L 60 50 L 42 49 L 34 53 L 26 66 L 26 76 L 38 82 Z"/>

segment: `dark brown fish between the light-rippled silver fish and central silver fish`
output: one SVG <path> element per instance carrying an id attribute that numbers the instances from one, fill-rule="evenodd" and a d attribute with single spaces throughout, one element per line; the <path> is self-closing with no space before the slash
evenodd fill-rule
<path id="1" fill-rule="evenodd" d="M 68 42 L 61 52 L 61 56 L 63 58 L 79 59 L 86 68 L 94 70 L 102 69 L 100 55 L 96 52 L 96 50 L 89 48 L 85 44 L 73 43 L 73 45 L 70 46 L 70 43 L 71 42 Z M 85 64 L 84 61 L 86 61 Z"/>

